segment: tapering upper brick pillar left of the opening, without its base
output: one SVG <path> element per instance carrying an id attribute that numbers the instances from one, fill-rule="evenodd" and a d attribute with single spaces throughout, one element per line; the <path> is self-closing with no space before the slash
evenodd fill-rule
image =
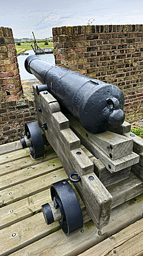
<path id="1" fill-rule="evenodd" d="M 0 27 L 0 102 L 19 100 L 21 77 L 11 28 Z"/>

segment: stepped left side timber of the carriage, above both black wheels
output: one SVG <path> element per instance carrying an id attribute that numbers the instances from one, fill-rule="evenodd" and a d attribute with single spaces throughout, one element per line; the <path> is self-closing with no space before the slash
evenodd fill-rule
<path id="1" fill-rule="evenodd" d="M 69 137 L 65 136 L 65 138 L 63 138 L 63 134 L 65 134 L 66 131 L 65 129 L 60 130 L 60 126 L 57 124 L 57 115 L 60 111 L 56 114 L 55 119 L 55 113 L 58 108 L 54 109 L 52 107 L 52 102 L 50 104 L 48 103 L 48 97 L 45 97 L 45 94 L 40 93 L 38 96 L 36 93 L 36 86 L 33 86 L 33 89 L 34 97 L 36 98 L 35 102 L 37 102 L 36 107 L 38 108 L 39 105 L 41 105 L 42 109 L 41 115 L 38 116 L 39 124 L 41 124 L 43 120 L 47 123 L 47 130 L 44 131 L 47 140 L 55 149 L 67 175 L 74 171 L 78 172 L 80 175 L 81 182 L 76 183 L 75 187 L 80 194 L 80 197 L 83 199 L 87 211 L 91 214 L 92 219 L 94 219 L 96 226 L 101 228 L 102 226 L 107 225 L 111 213 L 111 195 L 94 174 L 94 165 L 89 161 L 89 158 L 87 158 L 83 150 L 80 149 L 80 147 L 72 149 L 72 143 L 75 145 L 75 142 L 77 141 L 78 143 L 79 140 L 77 136 L 75 137 L 73 131 L 70 131 Z M 52 113 L 54 113 L 54 115 Z M 60 116 L 62 115 L 63 114 L 60 113 Z M 64 118 L 65 116 L 63 116 L 63 120 Z M 59 118 L 59 120 L 59 122 L 61 122 L 61 118 Z M 67 118 L 65 118 L 65 120 L 67 121 Z M 67 143 L 65 143 L 65 140 L 67 140 Z M 89 180 L 89 176 L 94 177 L 92 183 L 87 182 Z M 86 188 L 86 192 L 83 188 Z M 91 198 L 92 200 L 89 203 L 89 197 L 91 196 L 93 188 L 94 193 Z M 102 193 L 99 193 L 98 191 L 102 191 Z M 96 194 L 98 194 L 98 196 L 96 196 Z M 94 210 L 94 205 L 97 205 L 96 212 Z"/>

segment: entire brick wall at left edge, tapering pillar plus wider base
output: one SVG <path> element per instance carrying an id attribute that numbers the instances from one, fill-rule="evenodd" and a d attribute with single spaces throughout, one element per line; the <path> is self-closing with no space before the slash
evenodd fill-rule
<path id="1" fill-rule="evenodd" d="M 32 120 L 36 109 L 23 97 L 12 29 L 0 27 L 0 145 L 19 140 Z"/>

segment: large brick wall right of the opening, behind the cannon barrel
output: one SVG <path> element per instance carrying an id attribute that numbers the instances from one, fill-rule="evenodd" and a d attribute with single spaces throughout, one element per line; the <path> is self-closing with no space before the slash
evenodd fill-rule
<path id="1" fill-rule="evenodd" d="M 53 28 L 56 64 L 118 86 L 126 121 L 143 116 L 143 25 Z"/>

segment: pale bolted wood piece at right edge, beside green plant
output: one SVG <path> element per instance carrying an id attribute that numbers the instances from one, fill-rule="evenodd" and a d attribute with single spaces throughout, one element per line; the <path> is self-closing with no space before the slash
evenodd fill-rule
<path id="1" fill-rule="evenodd" d="M 141 154 L 143 152 L 143 139 L 132 132 L 125 133 L 124 136 L 133 139 L 133 152 Z"/>

